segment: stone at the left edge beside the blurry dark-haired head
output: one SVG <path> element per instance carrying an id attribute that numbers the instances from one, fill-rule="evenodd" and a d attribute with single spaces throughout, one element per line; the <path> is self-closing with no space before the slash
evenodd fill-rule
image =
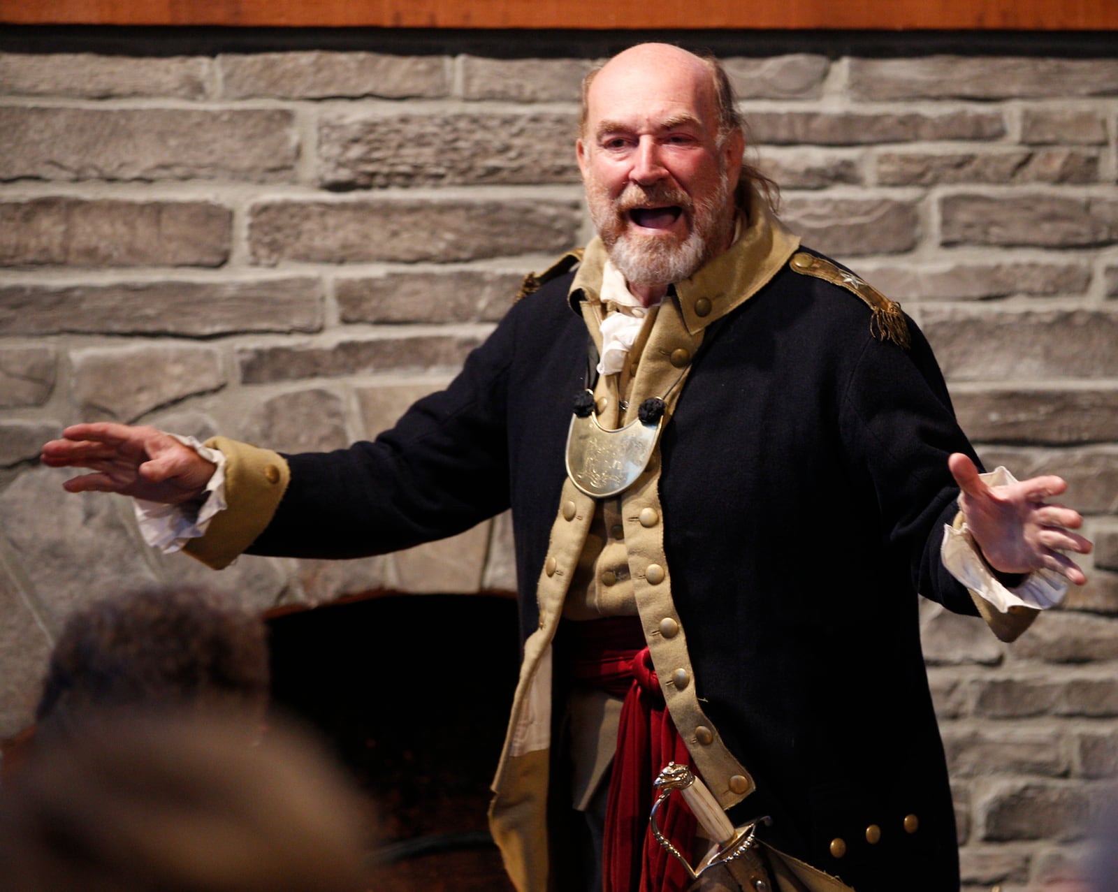
<path id="1" fill-rule="evenodd" d="M 2 562 L 0 616 L 0 738 L 9 738 L 35 721 L 51 642 Z"/>

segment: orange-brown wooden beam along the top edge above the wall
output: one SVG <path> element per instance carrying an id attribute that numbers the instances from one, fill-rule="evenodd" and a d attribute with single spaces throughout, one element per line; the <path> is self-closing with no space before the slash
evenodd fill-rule
<path id="1" fill-rule="evenodd" d="M 1118 30 L 1118 0 L 0 0 L 8 25 Z"/>

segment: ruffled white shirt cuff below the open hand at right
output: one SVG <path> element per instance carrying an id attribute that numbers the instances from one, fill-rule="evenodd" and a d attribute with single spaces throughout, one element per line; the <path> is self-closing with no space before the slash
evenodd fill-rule
<path id="1" fill-rule="evenodd" d="M 1001 466 L 980 476 L 991 486 L 1004 486 L 1017 482 Z M 958 530 L 944 525 L 944 542 L 939 554 L 944 567 L 951 576 L 1003 614 L 1011 607 L 1046 610 L 1059 606 L 1068 592 L 1068 580 L 1054 570 L 1034 570 L 1020 586 L 1014 588 L 1003 586 L 978 553 L 978 547 L 966 523 Z"/>

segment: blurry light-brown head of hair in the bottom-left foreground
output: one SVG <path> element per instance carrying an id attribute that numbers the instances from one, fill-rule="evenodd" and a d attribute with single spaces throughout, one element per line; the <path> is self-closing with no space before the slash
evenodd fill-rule
<path id="1" fill-rule="evenodd" d="M 117 717 L 44 746 L 0 788 L 4 892 L 353 892 L 362 816 L 290 729 Z"/>

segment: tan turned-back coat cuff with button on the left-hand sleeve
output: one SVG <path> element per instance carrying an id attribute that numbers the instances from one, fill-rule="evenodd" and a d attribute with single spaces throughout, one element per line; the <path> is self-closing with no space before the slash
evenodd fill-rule
<path id="1" fill-rule="evenodd" d="M 225 455 L 228 507 L 214 516 L 206 535 L 191 539 L 182 550 L 220 570 L 233 563 L 272 522 L 291 481 L 291 469 L 278 453 L 227 437 L 212 437 L 206 440 L 206 446 Z"/>

